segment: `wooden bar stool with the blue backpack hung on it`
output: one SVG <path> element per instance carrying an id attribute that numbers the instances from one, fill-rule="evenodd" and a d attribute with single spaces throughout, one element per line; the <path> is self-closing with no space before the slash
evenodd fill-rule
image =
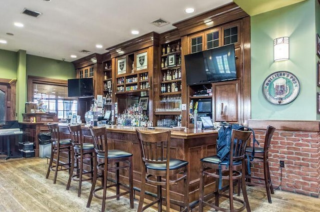
<path id="1" fill-rule="evenodd" d="M 251 212 L 246 189 L 245 189 L 245 148 L 251 131 L 232 130 L 230 141 L 230 157 L 229 160 L 220 161 L 216 155 L 200 159 L 201 177 L 199 188 L 199 212 L 203 211 L 203 206 L 209 206 L 215 211 L 223 212 L 240 212 L 246 209 Z M 213 172 L 212 172 L 213 171 Z M 243 174 L 242 174 L 243 172 Z M 204 196 L 204 178 L 211 176 L 215 179 L 215 191 Z M 233 197 L 233 181 L 241 182 L 241 189 L 244 201 Z M 228 185 L 219 189 L 219 181 L 228 180 Z M 223 194 L 223 191 L 229 190 L 229 194 Z M 214 205 L 207 202 L 214 197 Z M 229 209 L 219 207 L 219 198 L 225 197 L 229 200 Z M 234 209 L 233 202 L 241 204 L 240 208 Z"/>

